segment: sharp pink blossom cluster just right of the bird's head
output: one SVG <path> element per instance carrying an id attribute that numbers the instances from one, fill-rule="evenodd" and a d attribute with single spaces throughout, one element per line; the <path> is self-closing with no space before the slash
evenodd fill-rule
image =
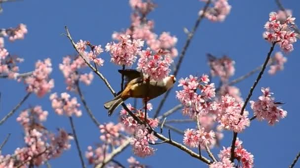
<path id="1" fill-rule="evenodd" d="M 215 103 L 210 100 L 215 97 L 215 84 L 208 84 L 209 78 L 207 75 L 202 75 L 199 79 L 192 75 L 186 79 L 180 79 L 178 86 L 183 86 L 183 89 L 176 91 L 176 97 L 184 105 L 183 113 L 194 118 L 196 114 L 206 114 L 210 110 L 215 109 Z M 201 93 L 197 93 L 197 89 Z"/>

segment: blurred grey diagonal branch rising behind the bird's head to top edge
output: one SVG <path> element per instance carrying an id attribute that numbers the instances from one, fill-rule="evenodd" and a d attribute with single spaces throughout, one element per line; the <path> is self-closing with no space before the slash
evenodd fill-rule
<path id="1" fill-rule="evenodd" d="M 190 44 L 190 42 L 191 42 L 191 39 L 193 38 L 193 36 L 194 36 L 194 34 L 195 34 L 197 28 L 199 27 L 199 24 L 200 24 L 201 20 L 204 18 L 205 12 L 206 12 L 206 10 L 208 9 L 208 6 L 209 6 L 210 2 L 211 2 L 211 0 L 207 0 L 206 4 L 205 4 L 205 6 L 204 6 L 204 8 L 203 8 L 203 10 L 202 10 L 202 11 L 203 11 L 202 15 L 200 15 L 200 16 L 198 17 L 198 19 L 196 20 L 196 23 L 195 23 L 194 27 L 192 28 L 192 30 L 191 30 L 191 31 L 189 32 L 189 34 L 188 34 L 188 39 L 187 39 L 187 41 L 186 41 L 186 43 L 185 43 L 185 45 L 184 45 L 184 47 L 183 47 L 183 49 L 182 49 L 182 51 L 181 51 L 181 54 L 180 54 L 180 56 L 179 56 L 179 60 L 178 60 L 178 62 L 177 62 L 177 64 L 176 64 L 176 67 L 175 67 L 175 70 L 174 70 L 174 73 L 173 73 L 173 75 L 174 75 L 175 77 L 176 77 L 177 74 L 178 74 L 179 68 L 180 68 L 181 63 L 182 63 L 182 61 L 183 61 L 183 59 L 184 59 L 184 56 L 186 55 L 186 52 L 187 52 L 187 50 L 188 50 L 188 46 L 189 46 L 189 44 Z M 170 88 L 170 89 L 164 94 L 164 97 L 161 99 L 161 101 L 160 101 L 160 103 L 159 103 L 159 105 L 158 105 L 158 108 L 157 108 L 157 110 L 155 111 L 154 118 L 156 118 L 156 117 L 158 116 L 158 114 L 159 114 L 159 112 L 160 112 L 160 110 L 161 110 L 163 104 L 165 103 L 165 101 L 166 101 L 166 99 L 167 99 L 167 97 L 168 97 L 168 95 L 169 95 L 171 89 L 172 89 L 172 88 Z"/>

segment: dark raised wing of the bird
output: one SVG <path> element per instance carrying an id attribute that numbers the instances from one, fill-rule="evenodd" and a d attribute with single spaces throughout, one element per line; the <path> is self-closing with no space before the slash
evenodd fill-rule
<path id="1" fill-rule="evenodd" d="M 129 82 L 133 84 L 133 83 L 140 82 L 143 79 L 143 73 L 135 69 L 125 69 L 125 70 L 119 69 L 118 72 L 124 75 L 125 77 L 125 87 Z"/>

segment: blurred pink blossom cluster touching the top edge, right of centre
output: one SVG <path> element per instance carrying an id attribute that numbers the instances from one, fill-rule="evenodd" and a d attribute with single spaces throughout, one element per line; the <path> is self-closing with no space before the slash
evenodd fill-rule
<path id="1" fill-rule="evenodd" d="M 214 7 L 209 7 L 205 11 L 204 16 L 213 22 L 223 22 L 231 9 L 231 6 L 228 4 L 228 0 L 213 0 L 213 3 Z M 200 10 L 199 16 L 202 14 L 203 10 Z"/>

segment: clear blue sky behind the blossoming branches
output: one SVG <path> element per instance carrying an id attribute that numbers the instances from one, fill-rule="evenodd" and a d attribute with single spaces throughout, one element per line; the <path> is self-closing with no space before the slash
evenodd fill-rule
<path id="1" fill-rule="evenodd" d="M 283 1 L 283 0 L 282 0 Z M 176 45 L 179 52 L 187 39 L 183 28 L 192 28 L 198 10 L 204 3 L 198 0 L 161 0 L 155 1 L 158 7 L 150 13 L 149 19 L 155 22 L 155 32 L 170 31 L 176 35 L 178 43 Z M 235 60 L 235 75 L 232 79 L 239 77 L 258 65 L 262 64 L 270 45 L 263 40 L 263 25 L 268 19 L 271 11 L 276 11 L 277 6 L 273 0 L 229 0 L 232 6 L 229 16 L 224 23 L 212 23 L 204 20 L 197 30 L 189 48 L 178 78 L 187 77 L 189 74 L 208 73 L 209 67 L 206 62 L 206 53 L 215 56 L 227 55 Z M 300 19 L 300 11 L 297 0 L 284 0 L 286 8 L 293 10 L 296 23 Z M 52 92 L 64 92 L 66 85 L 62 73 L 58 69 L 58 64 L 62 62 L 62 57 L 75 54 L 73 47 L 64 33 L 64 26 L 68 26 L 73 38 L 76 40 L 89 40 L 93 44 L 105 46 L 111 41 L 113 31 L 120 31 L 130 24 L 131 9 L 127 0 L 24 0 L 2 4 L 4 9 L 0 14 L 0 28 L 15 27 L 20 23 L 26 24 L 28 34 L 24 40 L 14 43 L 5 43 L 5 47 L 11 54 L 25 58 L 25 62 L 20 67 L 21 72 L 34 69 L 34 64 L 38 59 L 50 57 L 53 63 L 51 77 L 55 79 L 55 88 Z M 299 24 L 298 24 L 299 25 Z M 288 112 L 288 116 L 282 119 L 275 126 L 268 126 L 266 122 L 253 121 L 251 126 L 244 133 L 239 134 L 243 140 L 244 147 L 255 157 L 255 167 L 258 168 L 282 168 L 288 167 L 296 154 L 300 150 L 299 125 L 300 113 L 298 109 L 299 100 L 299 66 L 300 44 L 294 45 L 295 50 L 288 55 L 288 62 L 284 71 L 280 71 L 275 76 L 263 75 L 263 79 L 254 91 L 253 99 L 261 94 L 260 87 L 269 86 L 274 92 L 277 101 L 285 102 L 283 109 Z M 279 48 L 275 48 L 275 52 Z M 105 65 L 100 71 L 107 77 L 112 87 L 119 88 L 120 79 L 117 76 L 117 67 L 110 63 L 110 56 L 102 55 Z M 175 60 L 175 62 L 177 59 Z M 249 79 L 237 84 L 241 89 L 242 97 L 245 99 L 257 74 Z M 90 86 L 81 87 L 86 97 L 89 107 L 101 123 L 116 121 L 116 114 L 107 116 L 107 111 L 103 108 L 103 103 L 112 98 L 104 83 L 95 77 Z M 172 89 L 169 99 L 166 101 L 162 112 L 165 112 L 179 103 L 175 99 L 175 91 Z M 26 94 L 25 85 L 13 80 L 0 80 L 0 118 L 9 112 Z M 72 93 L 72 95 L 75 95 Z M 31 96 L 20 110 L 26 109 L 29 105 L 42 105 L 44 110 L 49 111 L 48 120 L 45 126 L 49 130 L 57 127 L 65 128 L 71 132 L 69 120 L 65 116 L 56 115 L 51 107 L 48 95 L 38 99 Z M 151 101 L 154 109 L 161 97 Z M 247 109 L 252 111 L 248 106 Z M 4 146 L 2 153 L 13 153 L 16 147 L 23 146 L 22 128 L 15 121 L 20 110 L 0 126 L 0 141 L 11 133 L 11 138 Z M 80 118 L 74 118 L 80 147 L 83 151 L 88 145 L 95 145 L 99 142 L 99 130 L 93 125 L 90 118 L 83 110 Z M 174 118 L 182 118 L 181 112 L 174 114 Z M 185 129 L 189 125 L 178 125 Z M 232 139 L 232 133 L 225 131 L 225 138 L 221 141 L 222 146 L 228 146 Z M 172 133 L 172 137 L 182 142 L 182 137 Z M 169 144 L 155 146 L 158 148 L 156 154 L 149 158 L 137 158 L 141 163 L 150 165 L 152 168 L 173 167 L 206 167 L 199 160 L 191 158 L 188 154 Z M 213 149 L 212 152 L 218 154 L 220 148 Z M 126 159 L 133 155 L 128 148 L 117 160 L 127 165 Z M 180 158 L 180 159 L 178 159 Z M 86 161 L 85 161 L 86 162 Z M 80 167 L 79 158 L 72 142 L 72 149 L 66 151 L 62 157 L 51 160 L 53 168 Z M 300 165 L 300 164 L 299 164 Z M 296 166 L 297 167 L 297 166 Z"/>

